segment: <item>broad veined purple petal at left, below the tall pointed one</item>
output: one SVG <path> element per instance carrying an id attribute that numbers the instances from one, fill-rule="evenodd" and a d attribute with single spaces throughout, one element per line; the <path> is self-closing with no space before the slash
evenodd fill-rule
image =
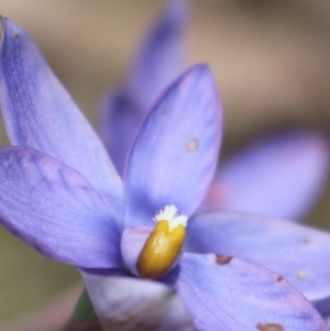
<path id="1" fill-rule="evenodd" d="M 116 220 L 89 183 L 56 158 L 0 148 L 0 222 L 52 260 L 80 267 L 121 265 Z"/>

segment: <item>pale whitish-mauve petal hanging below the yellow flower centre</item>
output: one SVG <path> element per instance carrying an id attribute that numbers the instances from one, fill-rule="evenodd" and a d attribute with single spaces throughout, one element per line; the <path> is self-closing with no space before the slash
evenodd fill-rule
<path id="1" fill-rule="evenodd" d="M 173 287 L 152 280 L 82 273 L 105 331 L 193 331 L 191 319 Z"/>

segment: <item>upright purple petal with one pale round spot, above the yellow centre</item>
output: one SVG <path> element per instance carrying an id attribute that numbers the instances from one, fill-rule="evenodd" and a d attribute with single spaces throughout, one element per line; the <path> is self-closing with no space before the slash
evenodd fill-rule
<path id="1" fill-rule="evenodd" d="M 148 113 L 128 159 L 125 224 L 153 224 L 175 205 L 189 217 L 201 202 L 218 161 L 221 107 L 207 66 L 193 67 Z"/>

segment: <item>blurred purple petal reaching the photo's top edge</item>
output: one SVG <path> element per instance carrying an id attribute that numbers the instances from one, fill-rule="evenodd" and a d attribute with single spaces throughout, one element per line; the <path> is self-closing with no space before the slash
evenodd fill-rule
<path id="1" fill-rule="evenodd" d="M 184 71 L 187 12 L 186 1 L 168 1 L 136 56 L 128 90 L 144 112 Z"/>

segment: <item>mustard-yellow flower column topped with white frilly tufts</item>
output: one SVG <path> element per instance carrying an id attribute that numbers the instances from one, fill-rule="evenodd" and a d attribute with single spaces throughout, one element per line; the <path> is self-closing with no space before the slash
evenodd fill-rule
<path id="1" fill-rule="evenodd" d="M 178 257 L 186 238 L 187 217 L 178 216 L 177 208 L 170 205 L 161 210 L 154 221 L 156 227 L 136 263 L 139 275 L 152 279 L 164 276 Z"/>

